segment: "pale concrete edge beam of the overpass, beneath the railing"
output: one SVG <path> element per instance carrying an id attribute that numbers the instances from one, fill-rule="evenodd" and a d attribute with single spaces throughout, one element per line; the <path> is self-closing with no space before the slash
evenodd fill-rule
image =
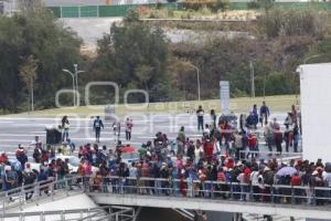
<path id="1" fill-rule="evenodd" d="M 172 208 L 202 211 L 220 211 L 233 213 L 252 213 L 282 215 L 295 218 L 325 219 L 331 218 L 331 207 L 313 206 L 291 206 L 273 204 L 229 200 L 213 200 L 207 198 L 183 198 L 183 197 L 159 197 L 159 196 L 137 196 L 137 194 L 116 194 L 116 193 L 96 193 L 88 196 L 98 204 L 118 204 L 130 207 L 150 207 L 150 208 Z"/>

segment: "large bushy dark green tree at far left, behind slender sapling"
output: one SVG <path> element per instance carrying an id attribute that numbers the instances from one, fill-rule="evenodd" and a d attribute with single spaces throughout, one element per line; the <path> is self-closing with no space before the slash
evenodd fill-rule
<path id="1" fill-rule="evenodd" d="M 38 61 L 34 77 L 35 108 L 55 106 L 55 94 L 71 86 L 61 70 L 79 63 L 82 41 L 47 11 L 17 13 L 0 20 L 0 109 L 25 110 L 26 84 L 20 73 L 26 59 Z M 23 57 L 23 59 L 22 59 Z M 25 81 L 26 82 L 26 81 Z"/>

